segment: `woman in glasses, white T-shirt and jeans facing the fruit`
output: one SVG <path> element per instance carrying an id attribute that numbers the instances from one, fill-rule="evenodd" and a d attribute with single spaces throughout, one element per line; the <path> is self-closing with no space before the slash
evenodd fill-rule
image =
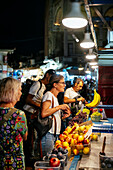
<path id="1" fill-rule="evenodd" d="M 42 117 L 47 117 L 54 115 L 56 118 L 56 137 L 60 134 L 61 130 L 61 112 L 60 110 L 65 111 L 62 119 L 65 119 L 70 116 L 71 111 L 67 104 L 59 105 L 57 95 L 59 92 L 64 92 L 65 82 L 64 77 L 62 75 L 53 75 L 50 78 L 50 91 L 47 91 L 42 99 Z M 42 145 L 42 153 L 43 156 L 46 155 L 48 152 L 54 147 L 54 142 L 56 137 L 54 137 L 54 130 L 55 130 L 55 119 L 53 118 L 52 128 L 49 132 L 42 138 L 41 145 Z"/>

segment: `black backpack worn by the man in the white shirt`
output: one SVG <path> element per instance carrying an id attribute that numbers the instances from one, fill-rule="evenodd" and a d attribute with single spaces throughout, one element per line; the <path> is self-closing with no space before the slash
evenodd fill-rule
<path id="1" fill-rule="evenodd" d="M 40 80 L 38 80 L 40 82 L 40 88 L 38 90 L 38 92 L 40 91 L 41 87 L 42 87 L 42 82 Z M 30 84 L 23 84 L 22 85 L 22 95 L 20 97 L 20 100 L 16 103 L 15 107 L 17 109 L 23 110 L 24 105 L 26 104 L 26 99 L 27 96 L 29 94 L 29 90 L 31 88 L 31 86 L 33 85 L 34 81 L 31 81 Z M 37 93 L 38 93 L 37 92 Z"/>

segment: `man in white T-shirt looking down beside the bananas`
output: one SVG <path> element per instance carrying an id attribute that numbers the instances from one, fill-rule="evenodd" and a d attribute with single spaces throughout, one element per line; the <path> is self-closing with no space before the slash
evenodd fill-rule
<path id="1" fill-rule="evenodd" d="M 74 117 L 78 110 L 81 108 L 82 104 L 85 102 L 85 98 L 83 98 L 79 91 L 83 87 L 83 80 L 81 78 L 77 78 L 75 80 L 74 86 L 67 88 L 64 93 L 64 103 L 69 103 L 72 109 L 72 116 Z"/>

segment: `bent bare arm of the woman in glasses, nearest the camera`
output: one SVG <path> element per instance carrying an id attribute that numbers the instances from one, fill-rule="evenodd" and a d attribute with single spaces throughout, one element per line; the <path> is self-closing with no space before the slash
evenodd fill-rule
<path id="1" fill-rule="evenodd" d="M 64 110 L 67 114 L 71 113 L 70 108 L 67 104 L 58 105 L 58 106 L 53 107 L 53 108 L 49 108 L 50 105 L 51 105 L 50 100 L 47 100 L 47 101 L 42 103 L 42 111 L 41 111 L 42 118 L 50 116 L 53 113 L 57 112 L 58 110 Z"/>

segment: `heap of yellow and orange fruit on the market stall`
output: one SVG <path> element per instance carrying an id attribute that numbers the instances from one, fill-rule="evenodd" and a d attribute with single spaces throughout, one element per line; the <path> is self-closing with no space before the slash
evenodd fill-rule
<path id="1" fill-rule="evenodd" d="M 68 157 L 78 154 L 89 154 L 90 153 L 90 140 L 85 137 L 92 124 L 80 126 L 78 123 L 67 126 L 65 131 L 59 135 L 59 140 L 55 143 L 57 149 L 67 149 Z"/>

